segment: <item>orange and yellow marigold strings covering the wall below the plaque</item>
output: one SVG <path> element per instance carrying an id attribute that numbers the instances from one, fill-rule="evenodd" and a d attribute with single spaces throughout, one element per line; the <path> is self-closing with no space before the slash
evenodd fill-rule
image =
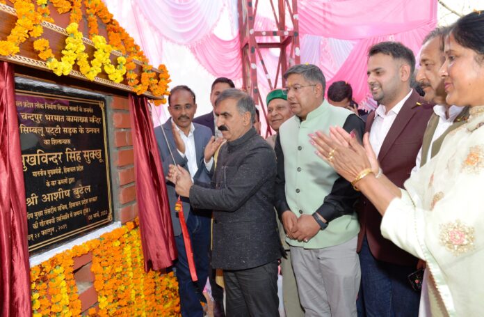
<path id="1" fill-rule="evenodd" d="M 139 228 L 128 222 L 31 268 L 33 316 L 80 316 L 73 258 L 92 252 L 98 307 L 89 316 L 179 316 L 171 273 L 145 272 Z"/>

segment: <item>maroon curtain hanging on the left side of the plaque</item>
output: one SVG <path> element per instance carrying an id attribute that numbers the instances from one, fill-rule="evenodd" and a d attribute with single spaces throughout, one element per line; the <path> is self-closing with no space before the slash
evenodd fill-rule
<path id="1" fill-rule="evenodd" d="M 31 316 L 27 206 L 14 70 L 0 61 L 0 316 Z"/>

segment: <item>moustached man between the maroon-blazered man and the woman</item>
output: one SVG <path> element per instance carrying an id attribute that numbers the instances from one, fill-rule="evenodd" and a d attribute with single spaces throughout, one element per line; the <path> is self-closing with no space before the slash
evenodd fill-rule
<path id="1" fill-rule="evenodd" d="M 437 28 L 424 39 L 420 52 L 420 68 L 415 78 L 422 90 L 424 99 L 435 103 L 434 113 L 428 121 L 425 130 L 422 147 L 417 155 L 415 167 L 412 173 L 417 172 L 434 155 L 436 155 L 442 142 L 449 132 L 464 124 L 469 117 L 469 107 L 457 107 L 448 105 L 446 102 L 447 93 L 444 88 L 444 80 L 440 77 L 439 70 L 445 61 L 444 38 L 449 29 Z M 421 266 L 425 266 L 421 261 Z M 430 305 L 428 304 L 427 288 L 428 271 L 424 273 L 422 281 L 422 292 L 420 299 L 419 316 L 431 316 Z"/>

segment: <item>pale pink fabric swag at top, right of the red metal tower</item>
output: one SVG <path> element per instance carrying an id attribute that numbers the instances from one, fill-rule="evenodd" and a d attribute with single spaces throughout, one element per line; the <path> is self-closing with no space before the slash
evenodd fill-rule
<path id="1" fill-rule="evenodd" d="M 437 16 L 437 1 L 300 0 L 301 33 L 360 39 L 417 29 Z"/>

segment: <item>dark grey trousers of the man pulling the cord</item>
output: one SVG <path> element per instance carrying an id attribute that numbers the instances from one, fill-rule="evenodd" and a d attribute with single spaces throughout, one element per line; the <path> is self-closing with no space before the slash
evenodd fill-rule
<path id="1" fill-rule="evenodd" d="M 279 316 L 278 262 L 247 270 L 223 271 L 227 317 Z"/>

